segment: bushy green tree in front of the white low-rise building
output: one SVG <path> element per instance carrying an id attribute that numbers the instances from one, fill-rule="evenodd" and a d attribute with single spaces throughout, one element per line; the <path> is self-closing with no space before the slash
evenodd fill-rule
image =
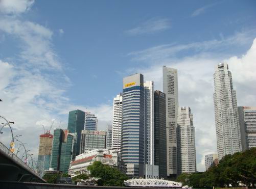
<path id="1" fill-rule="evenodd" d="M 95 161 L 94 164 L 87 167 L 87 170 L 90 171 L 91 176 L 101 178 L 98 180 L 98 185 L 124 186 L 124 180 L 128 179 L 118 169 L 103 165 L 100 161 Z"/>

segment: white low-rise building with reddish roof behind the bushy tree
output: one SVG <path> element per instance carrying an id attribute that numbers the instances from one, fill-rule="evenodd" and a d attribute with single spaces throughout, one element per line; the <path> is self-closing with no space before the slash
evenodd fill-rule
<path id="1" fill-rule="evenodd" d="M 89 174 L 87 167 L 92 165 L 94 161 L 101 161 L 104 165 L 117 168 L 122 173 L 126 173 L 126 167 L 118 151 L 95 149 L 76 156 L 76 159 L 72 161 L 69 167 L 68 174 L 71 177 L 79 174 Z"/>

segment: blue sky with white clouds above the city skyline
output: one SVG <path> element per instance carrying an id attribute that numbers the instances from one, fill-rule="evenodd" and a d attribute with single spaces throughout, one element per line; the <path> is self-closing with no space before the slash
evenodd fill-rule
<path id="1" fill-rule="evenodd" d="M 256 106 L 255 10 L 253 0 L 0 0 L 0 115 L 37 159 L 41 125 L 66 129 L 68 112 L 80 109 L 104 130 L 123 77 L 142 73 L 162 90 L 166 65 L 178 69 L 179 105 L 191 107 L 204 171 L 204 155 L 217 152 L 218 63 L 229 65 L 238 105 Z"/>

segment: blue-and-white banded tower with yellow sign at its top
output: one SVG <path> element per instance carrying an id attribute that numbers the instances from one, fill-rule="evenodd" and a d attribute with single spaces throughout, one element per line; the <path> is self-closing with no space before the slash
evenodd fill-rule
<path id="1" fill-rule="evenodd" d="M 143 75 L 123 79 L 123 126 L 121 156 L 130 177 L 143 176 L 144 87 Z"/>

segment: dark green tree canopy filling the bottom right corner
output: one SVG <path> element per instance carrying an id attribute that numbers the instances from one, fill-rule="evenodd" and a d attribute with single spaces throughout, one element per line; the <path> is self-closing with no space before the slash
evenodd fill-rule
<path id="1" fill-rule="evenodd" d="M 218 166 L 213 166 L 205 172 L 182 173 L 177 178 L 182 185 L 194 188 L 238 187 L 244 184 L 256 187 L 256 148 L 233 155 L 225 155 Z"/>

